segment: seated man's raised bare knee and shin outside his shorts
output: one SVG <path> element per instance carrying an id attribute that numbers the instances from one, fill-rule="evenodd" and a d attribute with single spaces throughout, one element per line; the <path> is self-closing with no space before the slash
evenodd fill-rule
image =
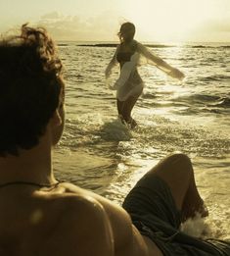
<path id="1" fill-rule="evenodd" d="M 193 218 L 196 212 L 203 217 L 208 215 L 201 198 L 190 159 L 184 154 L 174 154 L 162 160 L 148 175 L 158 175 L 170 187 L 178 210 L 182 212 L 182 221 Z"/>

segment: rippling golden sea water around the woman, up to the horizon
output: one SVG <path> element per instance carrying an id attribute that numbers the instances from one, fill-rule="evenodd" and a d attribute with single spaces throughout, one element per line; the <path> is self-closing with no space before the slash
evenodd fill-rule
<path id="1" fill-rule="evenodd" d="M 153 66 L 139 67 L 145 88 L 133 110 L 138 128 L 129 130 L 117 119 L 115 93 L 104 78 L 115 47 L 59 44 L 67 121 L 54 152 L 56 176 L 121 204 L 161 158 L 185 153 L 209 217 L 182 229 L 230 238 L 230 44 L 150 46 L 186 78 L 178 82 Z"/>

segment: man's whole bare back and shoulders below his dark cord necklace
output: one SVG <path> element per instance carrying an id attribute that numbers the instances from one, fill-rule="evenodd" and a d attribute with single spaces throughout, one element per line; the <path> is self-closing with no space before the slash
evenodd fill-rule
<path id="1" fill-rule="evenodd" d="M 69 183 L 2 187 L 0 208 L 5 255 L 162 255 L 122 208 Z"/>

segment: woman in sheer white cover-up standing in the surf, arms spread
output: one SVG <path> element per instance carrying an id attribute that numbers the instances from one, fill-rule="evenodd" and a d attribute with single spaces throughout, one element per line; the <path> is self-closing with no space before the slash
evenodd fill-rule
<path id="1" fill-rule="evenodd" d="M 143 44 L 134 40 L 134 34 L 135 26 L 133 24 L 124 23 L 120 26 L 118 32 L 120 44 L 117 46 L 115 55 L 106 69 L 106 78 L 109 78 L 115 64 L 119 63 L 120 75 L 111 88 L 116 90 L 118 116 L 122 123 L 126 123 L 131 128 L 137 126 L 136 121 L 131 117 L 131 111 L 141 95 L 144 85 L 137 71 L 141 55 L 168 76 L 178 79 L 184 77 L 179 70 L 171 67 L 160 57 L 150 52 Z"/>

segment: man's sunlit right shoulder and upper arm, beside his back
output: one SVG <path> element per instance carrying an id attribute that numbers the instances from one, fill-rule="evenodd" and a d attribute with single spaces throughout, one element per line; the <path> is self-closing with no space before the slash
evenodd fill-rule
<path id="1" fill-rule="evenodd" d="M 114 239 L 115 255 L 153 255 L 154 253 L 156 256 L 162 256 L 156 244 L 147 237 L 142 237 L 139 231 L 131 225 L 129 216 L 121 207 L 106 198 L 75 186 L 74 184 L 63 183 L 61 186 L 66 192 L 70 194 L 74 193 L 78 200 L 89 200 L 89 203 L 96 202 L 96 204 L 99 204 L 100 207 L 103 208 L 103 211 L 106 211 L 106 219 L 108 220 L 108 218 L 110 218 L 109 226 L 113 232 L 111 239 Z M 84 214 L 84 212 L 82 214 Z M 90 231 L 94 230 L 90 229 Z M 97 231 L 94 233 L 98 235 Z M 108 256 L 109 255 L 110 254 L 108 254 Z"/>

